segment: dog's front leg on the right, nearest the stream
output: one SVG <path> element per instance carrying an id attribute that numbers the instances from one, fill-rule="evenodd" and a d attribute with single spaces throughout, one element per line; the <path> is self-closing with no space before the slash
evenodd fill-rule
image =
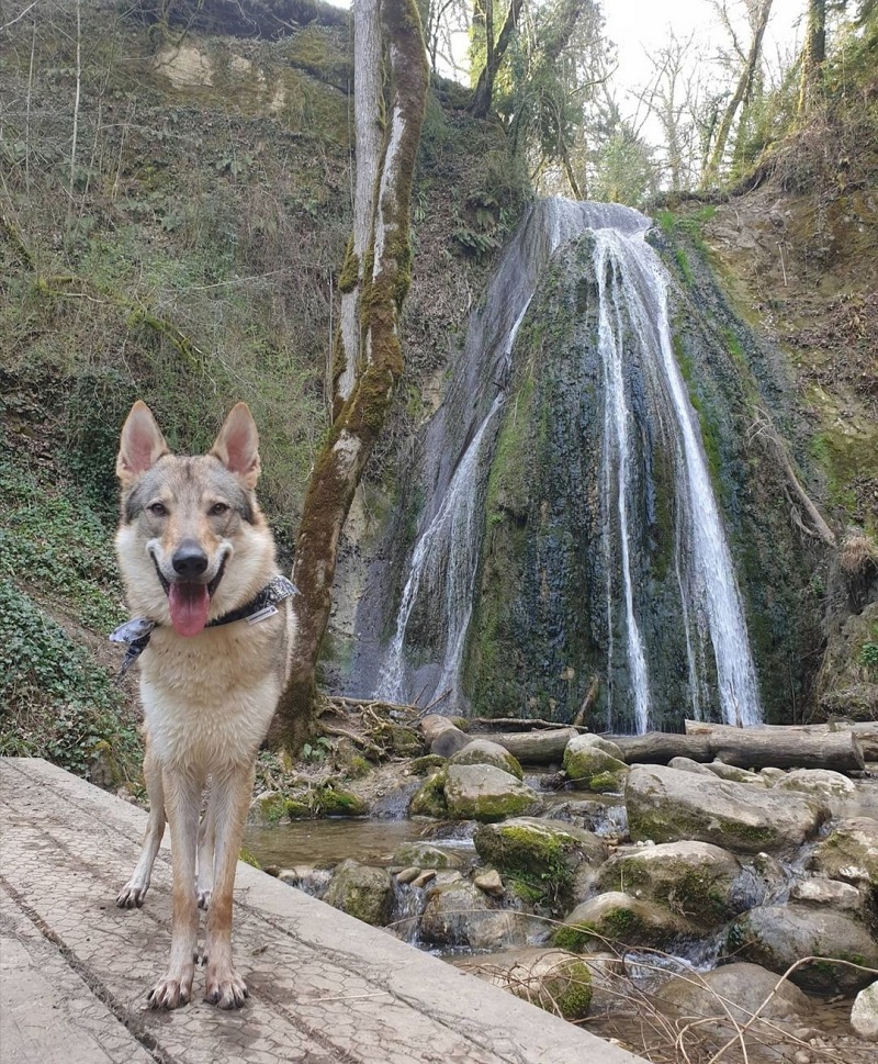
<path id="1" fill-rule="evenodd" d="M 204 999 L 221 1009 L 238 1008 L 247 997 L 247 985 L 232 966 L 232 894 L 254 773 L 252 764 L 238 765 L 214 775 L 211 789 L 215 850 Z"/>

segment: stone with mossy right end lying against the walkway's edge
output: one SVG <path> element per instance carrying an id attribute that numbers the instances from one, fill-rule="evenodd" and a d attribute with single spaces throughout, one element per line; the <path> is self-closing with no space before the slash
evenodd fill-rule
<path id="1" fill-rule="evenodd" d="M 565 1020 L 581 1020 L 592 1001 L 588 965 L 565 950 L 509 950 L 455 966 Z"/>

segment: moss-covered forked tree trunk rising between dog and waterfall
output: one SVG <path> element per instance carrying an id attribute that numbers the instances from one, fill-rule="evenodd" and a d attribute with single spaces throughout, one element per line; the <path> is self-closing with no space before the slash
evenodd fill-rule
<path id="1" fill-rule="evenodd" d="M 360 216 L 339 284 L 354 296 L 354 327 L 339 331 L 335 421 L 308 482 L 296 542 L 299 631 L 271 735 L 288 751 L 299 750 L 312 728 L 341 529 L 403 370 L 397 320 L 409 281 L 408 214 L 427 58 L 415 0 L 356 0 L 353 18 L 357 169 L 370 178 L 362 189 L 358 181 Z M 362 254 L 358 227 L 368 234 Z M 342 384 L 346 373 L 350 383 Z"/>

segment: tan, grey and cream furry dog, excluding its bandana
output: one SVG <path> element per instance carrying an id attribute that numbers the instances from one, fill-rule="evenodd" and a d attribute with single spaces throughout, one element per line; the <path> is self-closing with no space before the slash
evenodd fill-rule
<path id="1" fill-rule="evenodd" d="M 149 408 L 134 404 L 116 462 L 116 552 L 134 616 L 157 623 L 140 663 L 149 824 L 117 905 L 143 905 L 167 815 L 173 927 L 153 1008 L 189 1001 L 199 907 L 209 909 L 205 999 L 247 996 L 232 966 L 232 892 L 259 743 L 285 682 L 294 635 L 289 600 L 274 616 L 204 627 L 250 602 L 277 575 L 274 540 L 254 494 L 258 436 L 239 403 L 207 455 L 171 455 Z M 211 780 L 199 829 L 202 789 Z M 198 882 L 196 882 L 198 874 Z"/>

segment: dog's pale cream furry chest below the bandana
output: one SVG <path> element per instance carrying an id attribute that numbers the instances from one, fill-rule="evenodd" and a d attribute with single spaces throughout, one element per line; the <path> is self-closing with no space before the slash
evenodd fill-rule
<path id="1" fill-rule="evenodd" d="M 216 772 L 252 758 L 281 693 L 275 636 L 244 624 L 184 639 L 156 632 L 140 667 L 160 762 Z"/>

